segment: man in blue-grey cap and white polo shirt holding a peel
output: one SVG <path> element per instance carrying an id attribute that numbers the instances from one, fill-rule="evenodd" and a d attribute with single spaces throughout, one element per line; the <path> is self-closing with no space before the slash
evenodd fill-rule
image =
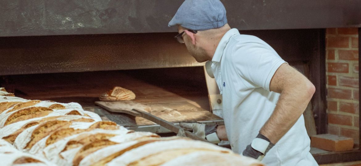
<path id="1" fill-rule="evenodd" d="M 212 61 L 223 98 L 225 126 L 182 124 L 210 141 L 229 140 L 234 152 L 266 165 L 317 165 L 303 112 L 315 87 L 260 38 L 227 24 L 219 0 L 186 0 L 168 26 L 198 61 Z"/>

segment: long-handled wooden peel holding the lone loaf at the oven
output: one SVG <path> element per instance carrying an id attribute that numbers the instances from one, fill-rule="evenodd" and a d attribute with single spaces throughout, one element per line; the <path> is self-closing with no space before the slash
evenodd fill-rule
<path id="1" fill-rule="evenodd" d="M 173 123 L 170 123 L 169 121 L 166 121 L 155 115 L 152 115 L 150 113 L 152 108 L 149 106 L 143 105 L 141 103 L 138 103 L 135 101 L 112 101 L 112 102 L 96 101 L 95 104 L 102 107 L 105 110 L 110 111 L 110 112 L 125 113 L 125 114 L 129 114 L 132 116 L 143 117 L 145 119 L 153 121 L 156 124 L 163 126 L 166 129 L 169 129 L 170 131 L 172 131 L 174 133 L 177 133 L 177 134 L 184 133 L 186 137 L 210 143 L 208 140 L 198 137 L 197 135 L 193 134 L 192 132 L 184 130 L 180 126 L 177 126 Z"/>

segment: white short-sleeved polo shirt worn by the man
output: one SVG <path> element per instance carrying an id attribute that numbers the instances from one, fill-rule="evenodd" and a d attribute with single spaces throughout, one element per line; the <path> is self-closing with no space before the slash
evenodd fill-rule
<path id="1" fill-rule="evenodd" d="M 212 59 L 212 70 L 223 98 L 223 118 L 234 152 L 242 154 L 271 116 L 279 93 L 271 79 L 286 63 L 260 38 L 229 30 Z M 268 166 L 317 165 L 310 151 L 303 115 L 262 160 Z"/>

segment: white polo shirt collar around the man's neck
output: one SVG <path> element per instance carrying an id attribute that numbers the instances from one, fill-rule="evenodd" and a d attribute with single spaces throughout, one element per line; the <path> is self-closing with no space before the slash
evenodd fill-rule
<path id="1" fill-rule="evenodd" d="M 239 34 L 238 29 L 232 28 L 223 35 L 221 41 L 219 41 L 216 52 L 214 52 L 212 62 L 219 62 L 221 61 L 223 50 L 226 48 L 227 43 L 229 42 L 230 38 L 236 34 Z"/>

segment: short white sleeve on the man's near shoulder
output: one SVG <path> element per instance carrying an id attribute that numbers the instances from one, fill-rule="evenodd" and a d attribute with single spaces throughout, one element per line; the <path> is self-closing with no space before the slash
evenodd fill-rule
<path id="1" fill-rule="evenodd" d="M 261 43 L 236 46 L 231 60 L 240 77 L 256 85 L 254 88 L 262 87 L 268 91 L 276 70 L 287 63 L 270 46 Z"/>

